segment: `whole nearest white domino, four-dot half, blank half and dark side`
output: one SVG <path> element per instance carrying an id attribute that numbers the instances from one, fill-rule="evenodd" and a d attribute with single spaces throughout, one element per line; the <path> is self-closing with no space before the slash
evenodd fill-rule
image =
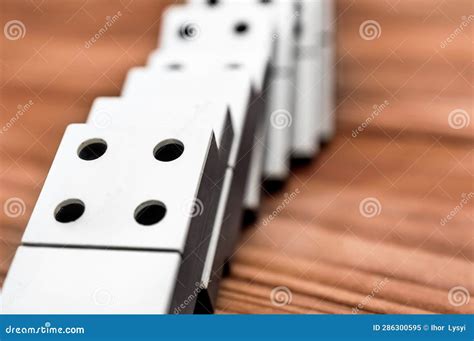
<path id="1" fill-rule="evenodd" d="M 224 116 L 226 107 L 218 110 Z M 211 125 L 190 111 L 175 112 L 164 128 L 68 127 L 7 276 L 5 312 L 194 311 L 183 302 L 200 283 L 222 167 Z M 124 276 L 117 266 L 124 259 L 141 270 Z M 107 264 L 108 275 L 95 278 L 95 266 Z M 98 307 L 97 290 L 117 304 Z"/>

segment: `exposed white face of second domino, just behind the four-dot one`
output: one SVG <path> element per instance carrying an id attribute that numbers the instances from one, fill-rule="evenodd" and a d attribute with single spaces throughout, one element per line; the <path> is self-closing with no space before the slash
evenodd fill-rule
<path id="1" fill-rule="evenodd" d="M 137 101 L 125 97 L 99 97 L 92 105 L 87 123 L 101 131 L 121 129 L 137 134 L 143 127 L 153 126 L 169 134 L 210 127 L 218 148 L 221 173 L 229 160 L 234 139 L 231 113 L 225 102 L 197 97 L 183 102 L 180 92 L 153 93 L 153 96 L 142 96 Z"/>

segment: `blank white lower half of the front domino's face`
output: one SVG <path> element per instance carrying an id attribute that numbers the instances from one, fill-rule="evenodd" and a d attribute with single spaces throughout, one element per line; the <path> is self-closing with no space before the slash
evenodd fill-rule
<path id="1" fill-rule="evenodd" d="M 167 314 L 177 252 L 20 246 L 4 286 L 8 314 Z M 133 280 L 126 280 L 133 279 Z"/>

